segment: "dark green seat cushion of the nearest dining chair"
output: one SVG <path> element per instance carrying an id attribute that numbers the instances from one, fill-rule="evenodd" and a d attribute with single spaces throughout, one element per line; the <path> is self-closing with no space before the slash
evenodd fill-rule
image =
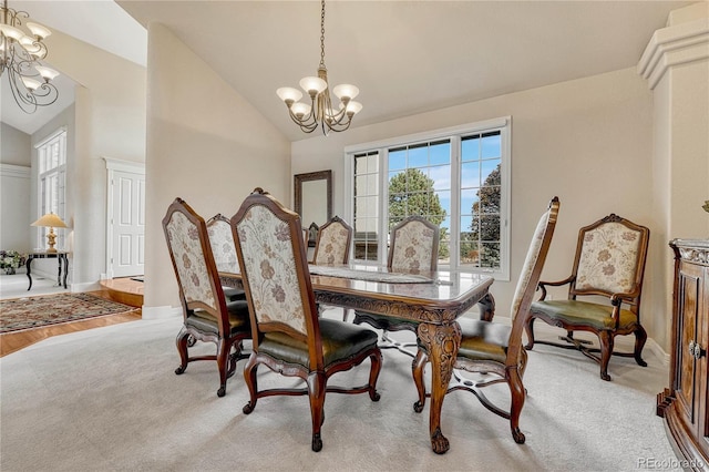
<path id="1" fill-rule="evenodd" d="M 335 319 L 320 318 L 319 322 L 326 368 L 377 346 L 379 337 L 371 329 Z M 310 365 L 308 343 L 284 332 L 264 334 L 258 351 L 287 363 Z"/>

